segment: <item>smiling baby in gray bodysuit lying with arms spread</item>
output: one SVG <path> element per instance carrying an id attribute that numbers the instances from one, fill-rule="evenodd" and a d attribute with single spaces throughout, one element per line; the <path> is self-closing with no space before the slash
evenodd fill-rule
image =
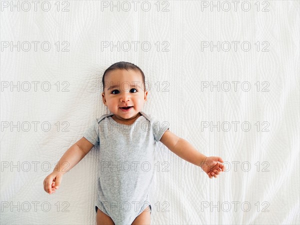
<path id="1" fill-rule="evenodd" d="M 55 193 L 62 175 L 94 145 L 99 145 L 97 224 L 150 224 L 153 204 L 148 193 L 158 141 L 182 159 L 201 167 L 209 178 L 216 178 L 225 170 L 220 157 L 206 157 L 169 131 L 166 121 L 142 112 L 148 92 L 139 67 L 128 62 L 115 63 L 105 70 L 102 84 L 102 100 L 111 113 L 93 120 L 83 137 L 62 155 L 43 181 L 47 193 Z"/>

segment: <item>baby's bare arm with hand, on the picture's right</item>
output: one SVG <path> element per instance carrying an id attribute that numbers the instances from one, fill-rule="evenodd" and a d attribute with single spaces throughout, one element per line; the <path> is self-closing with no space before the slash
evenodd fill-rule
<path id="1" fill-rule="evenodd" d="M 216 178 L 217 175 L 225 169 L 224 165 L 221 164 L 223 160 L 220 157 L 206 157 L 198 152 L 189 142 L 183 138 L 177 137 L 169 130 L 166 130 L 163 133 L 160 142 L 180 158 L 200 166 L 203 171 L 207 173 L 209 178 Z"/>

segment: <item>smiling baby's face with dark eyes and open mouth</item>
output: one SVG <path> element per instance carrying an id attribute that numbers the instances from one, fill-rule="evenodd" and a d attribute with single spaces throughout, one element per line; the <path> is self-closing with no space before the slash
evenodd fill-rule
<path id="1" fill-rule="evenodd" d="M 103 104 L 120 120 L 134 118 L 142 111 L 148 92 L 142 86 L 140 72 L 134 70 L 113 70 L 104 78 Z M 122 107 L 132 106 L 129 109 Z"/>

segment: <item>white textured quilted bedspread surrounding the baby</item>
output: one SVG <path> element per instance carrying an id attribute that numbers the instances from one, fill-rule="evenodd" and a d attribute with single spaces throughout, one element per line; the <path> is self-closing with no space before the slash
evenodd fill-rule
<path id="1" fill-rule="evenodd" d="M 151 224 L 299 223 L 298 1 L 37 2 L 1 1 L 1 224 L 96 223 L 98 149 L 55 194 L 42 182 L 108 113 L 101 78 L 119 61 L 150 83 L 145 113 L 226 161 L 209 179 L 159 143 Z"/>

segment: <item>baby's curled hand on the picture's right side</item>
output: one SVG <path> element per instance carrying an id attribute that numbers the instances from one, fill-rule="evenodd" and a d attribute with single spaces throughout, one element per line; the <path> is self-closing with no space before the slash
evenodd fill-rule
<path id="1" fill-rule="evenodd" d="M 223 159 L 217 156 L 206 157 L 201 163 L 200 167 L 205 173 L 207 173 L 209 178 L 217 178 L 217 175 L 224 171 L 226 168 L 221 162 L 224 162 Z"/>

